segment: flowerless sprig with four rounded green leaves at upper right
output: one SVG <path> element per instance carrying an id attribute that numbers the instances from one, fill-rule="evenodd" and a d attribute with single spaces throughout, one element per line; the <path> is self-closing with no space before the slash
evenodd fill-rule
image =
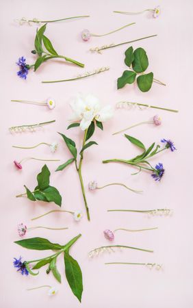
<path id="1" fill-rule="evenodd" d="M 125 64 L 130 70 L 124 70 L 123 75 L 117 79 L 117 88 L 121 89 L 126 84 L 133 84 L 137 78 L 138 88 L 142 92 L 148 92 L 151 89 L 153 82 L 166 86 L 162 81 L 153 78 L 153 73 L 144 74 L 144 71 L 149 66 L 149 60 L 146 51 L 143 48 L 137 48 L 133 51 L 133 47 L 129 47 L 125 51 Z M 131 69 L 131 66 L 133 69 Z"/>

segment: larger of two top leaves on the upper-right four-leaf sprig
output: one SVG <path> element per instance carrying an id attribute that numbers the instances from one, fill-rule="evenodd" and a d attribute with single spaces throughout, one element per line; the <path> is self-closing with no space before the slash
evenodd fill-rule
<path id="1" fill-rule="evenodd" d="M 133 70 L 136 73 L 142 73 L 149 66 L 148 57 L 146 55 L 146 51 L 142 48 L 138 48 L 134 51 L 134 60 L 132 63 Z"/>

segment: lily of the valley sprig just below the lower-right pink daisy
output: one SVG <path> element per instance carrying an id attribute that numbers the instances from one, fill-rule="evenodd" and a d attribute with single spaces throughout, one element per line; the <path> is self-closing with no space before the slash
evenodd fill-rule
<path id="1" fill-rule="evenodd" d="M 111 252 L 115 252 L 114 249 L 118 250 L 122 250 L 122 248 L 126 248 L 126 249 L 134 249 L 136 251 L 144 251 L 146 253 L 153 253 L 152 250 L 149 249 L 144 249 L 144 248 L 137 248 L 137 247 L 133 247 L 133 246 L 125 246 L 125 245 L 109 245 L 109 246 L 101 246 L 98 248 L 94 248 L 92 249 L 92 251 L 90 251 L 88 253 L 88 257 L 92 258 L 95 257 L 97 255 L 99 255 L 100 253 L 111 253 Z"/>

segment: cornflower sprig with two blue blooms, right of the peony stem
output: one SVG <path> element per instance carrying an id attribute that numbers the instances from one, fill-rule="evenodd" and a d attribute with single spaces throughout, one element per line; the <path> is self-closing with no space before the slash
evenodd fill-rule
<path id="1" fill-rule="evenodd" d="M 138 155 L 132 159 L 107 159 L 107 160 L 103 160 L 103 164 L 107 164 L 110 162 L 120 162 L 123 164 L 128 164 L 130 166 L 134 166 L 137 167 L 139 169 L 138 172 L 140 172 L 141 170 L 148 170 L 151 171 L 152 174 L 151 176 L 153 177 L 153 179 L 155 179 L 155 181 L 160 181 L 164 175 L 164 167 L 162 163 L 158 163 L 155 168 L 153 168 L 153 166 L 151 166 L 151 164 L 148 162 L 147 159 L 155 156 L 156 154 L 170 149 L 170 151 L 175 151 L 176 148 L 174 146 L 174 143 L 171 140 L 166 140 L 166 139 L 162 139 L 161 142 L 165 144 L 164 148 L 160 149 L 158 151 L 158 149 L 160 148 L 160 145 L 157 144 L 157 146 L 155 146 L 155 142 L 153 142 L 153 144 L 151 144 L 151 146 L 149 146 L 149 148 L 146 150 L 144 144 L 136 139 L 133 138 L 129 135 L 125 134 L 125 137 L 127 138 L 127 140 L 129 140 L 132 144 L 135 144 L 136 146 L 138 146 L 138 148 L 143 150 L 143 153 L 141 155 Z M 137 172 L 137 173 L 138 173 Z M 135 175 L 137 173 L 134 173 Z"/>

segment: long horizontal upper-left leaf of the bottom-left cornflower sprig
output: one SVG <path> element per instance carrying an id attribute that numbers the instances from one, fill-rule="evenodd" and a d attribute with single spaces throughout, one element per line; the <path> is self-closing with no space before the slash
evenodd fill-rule
<path id="1" fill-rule="evenodd" d="M 24 248 L 34 249 L 36 251 L 59 251 L 60 249 L 64 248 L 63 246 L 60 246 L 60 244 L 53 244 L 49 242 L 49 240 L 47 240 L 46 238 L 28 238 L 26 240 L 20 240 L 14 243 Z"/>

